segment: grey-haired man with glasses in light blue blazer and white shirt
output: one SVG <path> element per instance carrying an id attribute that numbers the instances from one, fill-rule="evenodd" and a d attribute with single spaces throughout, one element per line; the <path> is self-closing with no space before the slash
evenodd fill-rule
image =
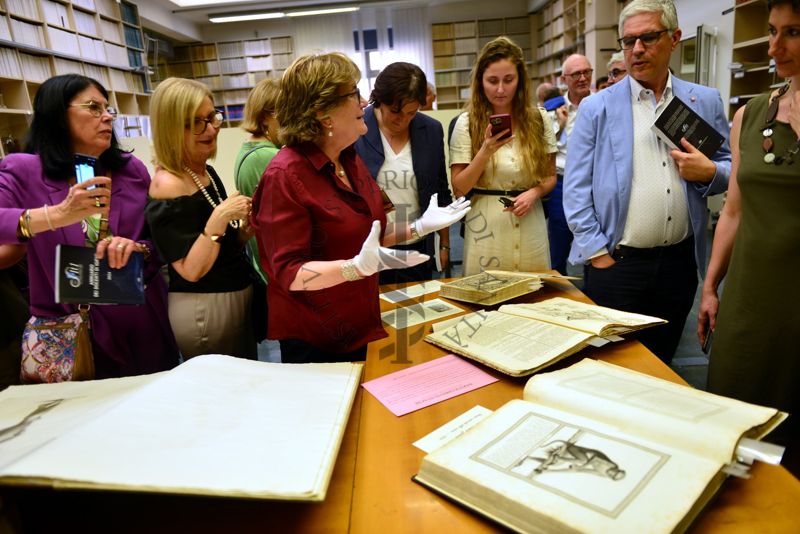
<path id="1" fill-rule="evenodd" d="M 570 262 L 584 264 L 584 291 L 596 303 L 668 323 L 642 331 L 669 363 L 705 271 L 706 197 L 728 185 L 727 142 L 708 159 L 686 140 L 670 150 L 651 130 L 674 96 L 728 133 L 716 89 L 675 78 L 680 42 L 671 0 L 633 0 L 620 14 L 628 75 L 586 98 L 570 136 L 564 211 L 574 234 Z"/>

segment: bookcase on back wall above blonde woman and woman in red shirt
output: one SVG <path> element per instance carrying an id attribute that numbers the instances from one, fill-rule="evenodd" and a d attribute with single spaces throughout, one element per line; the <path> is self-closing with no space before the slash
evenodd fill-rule
<path id="1" fill-rule="evenodd" d="M 266 77 L 280 78 L 294 59 L 291 37 L 265 37 L 174 46 L 172 58 L 156 66 L 158 78 L 192 78 L 214 93 L 225 126 L 238 126 L 250 90 Z"/>

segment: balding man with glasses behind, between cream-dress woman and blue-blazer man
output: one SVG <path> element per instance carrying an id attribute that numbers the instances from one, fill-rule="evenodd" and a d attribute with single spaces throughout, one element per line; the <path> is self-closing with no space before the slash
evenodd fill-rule
<path id="1" fill-rule="evenodd" d="M 561 274 L 567 274 L 567 257 L 572 244 L 572 232 L 567 226 L 562 204 L 564 166 L 567 162 L 567 142 L 581 100 L 589 96 L 592 87 L 592 65 L 586 56 L 572 54 L 561 66 L 561 82 L 567 86 L 564 105 L 555 110 L 559 131 L 556 132 L 556 186 L 545 197 L 547 210 L 547 237 L 550 241 L 550 265 Z"/>

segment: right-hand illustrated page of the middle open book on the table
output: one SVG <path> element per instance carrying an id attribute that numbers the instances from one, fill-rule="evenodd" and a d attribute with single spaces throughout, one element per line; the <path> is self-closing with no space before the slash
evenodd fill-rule
<path id="1" fill-rule="evenodd" d="M 554 297 L 533 304 L 506 304 L 500 306 L 500 311 L 591 332 L 596 336 L 625 333 L 648 324 L 666 322 L 658 317 L 622 312 L 563 297 Z M 612 325 L 618 327 L 609 329 Z"/>

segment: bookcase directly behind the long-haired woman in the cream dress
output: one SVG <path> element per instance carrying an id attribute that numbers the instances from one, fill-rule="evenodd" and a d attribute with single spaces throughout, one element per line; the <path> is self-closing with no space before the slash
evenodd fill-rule
<path id="1" fill-rule="evenodd" d="M 433 68 L 439 109 L 460 109 L 470 98 L 470 73 L 481 48 L 505 35 L 523 50 L 530 63 L 531 21 L 523 17 L 463 20 L 431 26 Z"/>

